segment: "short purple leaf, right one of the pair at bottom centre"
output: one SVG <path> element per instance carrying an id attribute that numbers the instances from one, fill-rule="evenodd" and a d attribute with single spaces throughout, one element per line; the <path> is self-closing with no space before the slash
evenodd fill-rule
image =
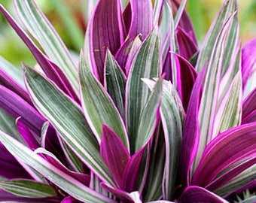
<path id="1" fill-rule="evenodd" d="M 145 147 L 142 147 L 142 149 L 134 153 L 133 156 L 131 156 L 129 161 L 127 162 L 123 174 L 123 186 L 126 192 L 133 192 L 137 190 L 139 170 L 142 162 L 142 157 L 145 151 Z"/>

